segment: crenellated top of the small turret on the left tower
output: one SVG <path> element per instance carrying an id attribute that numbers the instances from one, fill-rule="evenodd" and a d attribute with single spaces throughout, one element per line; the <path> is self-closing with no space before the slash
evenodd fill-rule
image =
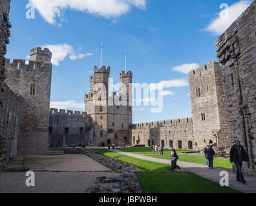
<path id="1" fill-rule="evenodd" d="M 30 59 L 32 61 L 50 62 L 52 52 L 48 48 L 44 48 L 44 50 L 41 47 L 33 48 L 30 50 Z"/>

